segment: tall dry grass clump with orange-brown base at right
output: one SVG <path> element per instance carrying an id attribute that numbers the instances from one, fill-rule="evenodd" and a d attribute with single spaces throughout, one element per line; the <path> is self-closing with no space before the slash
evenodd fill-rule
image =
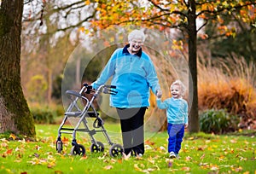
<path id="1" fill-rule="evenodd" d="M 256 119 L 256 66 L 244 59 L 198 64 L 199 109 L 226 109 L 241 117 L 243 127 Z M 253 128 L 256 129 L 256 127 Z"/>

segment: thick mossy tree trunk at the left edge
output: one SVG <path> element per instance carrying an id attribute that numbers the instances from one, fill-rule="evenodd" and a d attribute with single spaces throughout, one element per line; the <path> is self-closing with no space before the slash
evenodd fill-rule
<path id="1" fill-rule="evenodd" d="M 20 84 L 23 1 L 2 0 L 0 8 L 0 132 L 36 135 Z"/>

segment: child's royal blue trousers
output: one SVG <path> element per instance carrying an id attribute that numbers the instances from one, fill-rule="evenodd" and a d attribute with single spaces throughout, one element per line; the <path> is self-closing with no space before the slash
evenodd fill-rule
<path id="1" fill-rule="evenodd" d="M 184 136 L 184 124 L 170 124 L 168 123 L 167 127 L 168 131 L 168 152 L 174 152 L 175 154 L 178 154 L 181 143 L 183 142 L 183 136 Z"/>

